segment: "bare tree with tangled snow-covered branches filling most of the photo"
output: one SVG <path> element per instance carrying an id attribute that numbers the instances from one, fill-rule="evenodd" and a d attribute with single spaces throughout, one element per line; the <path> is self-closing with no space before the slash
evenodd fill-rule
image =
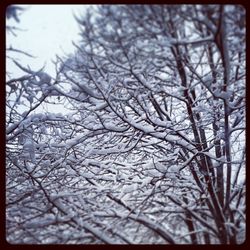
<path id="1" fill-rule="evenodd" d="M 104 5 L 77 21 L 42 91 L 70 113 L 11 125 L 9 241 L 243 242 L 245 10 Z"/>

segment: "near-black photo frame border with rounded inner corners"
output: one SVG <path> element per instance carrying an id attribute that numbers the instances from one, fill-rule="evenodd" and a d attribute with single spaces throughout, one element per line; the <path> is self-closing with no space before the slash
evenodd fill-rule
<path id="1" fill-rule="evenodd" d="M 6 237 L 5 237 L 5 96 L 6 96 L 6 90 L 5 90 L 5 73 L 6 73 L 6 51 L 5 51 L 5 44 L 6 44 L 6 32 L 5 32 L 5 26 L 6 26 L 6 21 L 5 21 L 5 11 L 8 5 L 11 4 L 240 4 L 242 5 L 245 9 L 246 9 L 246 21 L 247 21 L 247 39 L 246 39 L 246 44 L 247 44 L 247 62 L 249 62 L 248 58 L 249 58 L 249 39 L 248 39 L 248 28 L 249 28 L 249 8 L 248 4 L 247 4 L 247 0 L 217 0 L 217 1 L 209 1 L 209 0 L 155 0 L 155 1 L 145 1 L 145 0 L 137 0 L 137 1 L 133 1 L 133 0 L 123 0 L 123 1 L 119 1 L 119 0 L 88 0 L 88 1 L 84 1 L 84 0 L 73 0 L 73 1 L 69 1 L 69 0 L 53 0 L 53 1 L 49 1 L 49 0 L 26 0 L 26 1 L 22 1 L 22 0 L 1 0 L 0 2 L 0 30 L 2 31 L 2 36 L 0 36 L 0 44 L 1 44 L 1 49 L 0 49 L 0 54 L 1 54 L 1 64 L 0 64 L 0 160 L 1 160 L 1 165 L 0 165 L 0 197 L 2 197 L 2 202 L 0 203 L 0 246 L 1 249 L 19 249 L 19 248 L 25 248 L 25 249 L 41 249 L 41 248 L 50 248 L 50 249 L 58 249 L 58 248 L 62 248 L 62 249 L 72 249 L 72 248 L 89 248 L 89 249 L 121 249 L 121 248 L 141 248 L 141 249 L 155 249 L 155 248 L 161 248 L 161 249 L 165 249 L 165 247 L 168 247 L 169 249 L 182 249 L 182 248 L 207 248 L 207 249 L 211 249 L 212 248 L 225 248 L 225 249 L 249 249 L 250 246 L 250 234 L 249 234 L 249 193 L 247 192 L 247 212 L 246 212 L 246 217 L 247 217 L 247 223 L 246 223 L 246 241 L 241 244 L 241 245 L 229 245 L 229 246 L 220 246 L 220 245 L 168 245 L 168 246 L 164 246 L 164 245 L 132 245 L 132 246 L 126 246 L 126 245 L 11 245 L 6 241 Z M 247 83 L 246 83 L 246 96 L 248 96 L 249 94 L 249 64 L 247 63 L 247 69 L 246 69 L 246 73 L 247 73 Z M 247 98 L 247 103 L 249 102 L 248 100 L 249 98 Z M 248 104 L 247 104 L 247 110 L 248 110 Z M 246 111 L 247 111 L 246 110 Z M 248 112 L 246 112 L 247 116 L 248 116 Z M 247 128 L 248 128 L 248 117 L 247 117 Z M 247 135 L 248 135 L 248 129 L 246 131 L 246 143 L 247 143 Z M 248 152 L 247 152 L 247 156 L 248 156 Z M 248 157 L 247 157 L 247 165 L 248 165 Z M 249 170 L 247 170 L 247 179 L 249 179 Z M 247 187 L 249 186 L 248 182 L 247 182 Z"/>

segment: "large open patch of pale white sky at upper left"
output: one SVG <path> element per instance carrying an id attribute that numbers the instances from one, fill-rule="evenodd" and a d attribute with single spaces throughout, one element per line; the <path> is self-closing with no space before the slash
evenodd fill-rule
<path id="1" fill-rule="evenodd" d="M 46 63 L 45 71 L 54 76 L 54 66 L 51 62 L 55 55 L 65 55 L 74 52 L 72 41 L 79 39 L 79 27 L 73 17 L 84 13 L 88 5 L 19 5 L 26 10 L 19 16 L 20 23 L 7 21 L 24 31 L 17 31 L 17 36 L 7 33 L 7 45 L 26 51 L 36 58 L 29 58 L 19 53 L 12 53 L 22 65 L 30 65 L 32 70 L 38 70 Z M 7 61 L 7 69 L 13 72 L 13 77 L 23 73 Z"/>

